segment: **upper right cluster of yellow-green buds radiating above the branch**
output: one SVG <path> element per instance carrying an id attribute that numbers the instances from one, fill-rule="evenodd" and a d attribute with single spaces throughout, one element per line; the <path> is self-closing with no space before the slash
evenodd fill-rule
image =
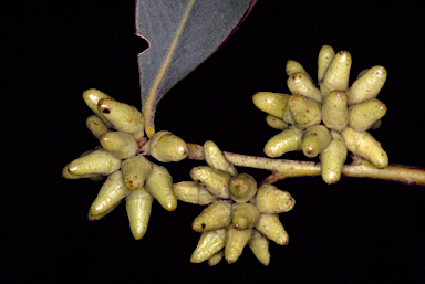
<path id="1" fill-rule="evenodd" d="M 348 150 L 377 168 L 388 165 L 388 156 L 367 132 L 380 127 L 386 106 L 377 94 L 387 72 L 376 65 L 362 71 L 349 87 L 351 54 L 323 45 L 318 60 L 319 87 L 302 65 L 288 61 L 288 88 L 292 93 L 259 92 L 255 105 L 268 113 L 269 126 L 282 130 L 265 146 L 269 157 L 302 150 L 309 158 L 320 155 L 321 173 L 326 183 L 335 183 Z M 322 123 L 322 124 L 321 124 Z"/>

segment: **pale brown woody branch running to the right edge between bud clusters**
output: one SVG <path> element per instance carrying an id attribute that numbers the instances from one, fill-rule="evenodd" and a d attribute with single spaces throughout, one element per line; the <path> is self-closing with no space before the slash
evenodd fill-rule
<path id="1" fill-rule="evenodd" d="M 187 146 L 189 148 L 187 156 L 189 159 L 204 160 L 203 146 L 197 144 L 187 144 Z M 273 183 L 291 177 L 315 177 L 321 175 L 320 162 L 271 159 L 227 151 L 222 154 L 235 166 L 272 171 L 272 175 L 261 183 Z M 386 168 L 379 169 L 361 157 L 352 156 L 352 158 L 353 161 L 342 168 L 342 176 L 344 177 L 382 179 L 408 186 L 425 186 L 425 169 L 423 168 L 390 164 Z"/>

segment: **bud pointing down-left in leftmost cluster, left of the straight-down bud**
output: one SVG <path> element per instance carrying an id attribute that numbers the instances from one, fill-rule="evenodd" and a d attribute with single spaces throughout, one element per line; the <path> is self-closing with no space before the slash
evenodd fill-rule
<path id="1" fill-rule="evenodd" d="M 91 214 L 103 214 L 114 204 L 121 202 L 121 200 L 127 197 L 131 192 L 132 191 L 124 186 L 121 170 L 115 171 L 107 177 L 99 191 L 96 199 L 90 208 Z"/>

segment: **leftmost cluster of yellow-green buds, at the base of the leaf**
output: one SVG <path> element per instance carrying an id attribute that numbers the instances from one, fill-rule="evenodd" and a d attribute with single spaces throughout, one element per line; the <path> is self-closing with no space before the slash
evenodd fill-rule
<path id="1" fill-rule="evenodd" d="M 85 91 L 83 98 L 95 113 L 86 125 L 101 146 L 66 165 L 62 176 L 95 180 L 107 176 L 89 210 L 89 220 L 100 220 L 125 199 L 129 228 L 139 240 L 147 230 L 154 198 L 168 211 L 176 209 L 177 199 L 168 170 L 138 154 L 163 162 L 179 161 L 187 156 L 187 145 L 169 132 L 158 132 L 146 143 L 145 119 L 134 106 L 94 88 Z"/>

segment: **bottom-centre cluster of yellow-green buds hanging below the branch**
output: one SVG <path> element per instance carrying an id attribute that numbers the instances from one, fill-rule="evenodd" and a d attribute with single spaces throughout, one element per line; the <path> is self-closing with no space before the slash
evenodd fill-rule
<path id="1" fill-rule="evenodd" d="M 294 199 L 271 185 L 257 188 L 256 180 L 247 173 L 238 175 L 212 141 L 205 143 L 204 157 L 208 167 L 193 168 L 194 181 L 173 185 L 178 200 L 208 204 L 191 224 L 201 236 L 190 261 L 208 260 L 212 266 L 225 256 L 234 263 L 249 244 L 257 259 L 268 265 L 269 240 L 288 244 L 288 233 L 278 214 L 291 210 Z"/>

